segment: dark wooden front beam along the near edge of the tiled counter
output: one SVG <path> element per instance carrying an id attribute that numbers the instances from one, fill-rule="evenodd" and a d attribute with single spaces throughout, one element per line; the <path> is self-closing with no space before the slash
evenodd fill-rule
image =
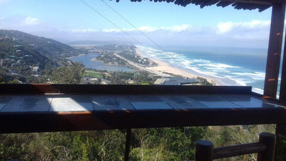
<path id="1" fill-rule="evenodd" d="M 0 133 L 31 133 L 153 127 L 257 125 L 285 122 L 284 108 L 0 112 Z"/>

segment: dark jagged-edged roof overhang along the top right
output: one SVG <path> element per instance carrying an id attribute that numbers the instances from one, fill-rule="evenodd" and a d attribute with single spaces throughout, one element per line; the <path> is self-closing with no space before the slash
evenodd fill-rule
<path id="1" fill-rule="evenodd" d="M 116 0 L 119 2 L 120 0 Z M 142 0 L 131 0 L 141 2 Z M 153 0 L 150 0 L 153 1 Z M 233 6 L 237 10 L 255 10 L 258 9 L 259 12 L 270 8 L 273 3 L 283 3 L 285 0 L 154 0 L 154 2 L 167 2 L 174 3 L 179 6 L 188 6 L 189 4 L 199 5 L 201 8 L 205 6 L 217 5 L 218 7 Z"/>

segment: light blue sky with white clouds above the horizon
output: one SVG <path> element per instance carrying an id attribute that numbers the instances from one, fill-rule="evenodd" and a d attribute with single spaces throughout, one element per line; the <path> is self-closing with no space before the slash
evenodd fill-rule
<path id="1" fill-rule="evenodd" d="M 271 8 L 259 12 L 231 6 L 201 9 L 192 4 L 184 8 L 147 0 L 0 0 L 0 29 L 63 43 L 89 40 L 162 47 L 266 48 L 271 12 Z"/>

